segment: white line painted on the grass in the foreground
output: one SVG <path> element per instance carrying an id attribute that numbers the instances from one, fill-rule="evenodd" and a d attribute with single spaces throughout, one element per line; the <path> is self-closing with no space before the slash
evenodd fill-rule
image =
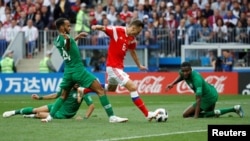
<path id="1" fill-rule="evenodd" d="M 151 135 L 143 135 L 143 136 L 130 136 L 130 137 L 121 137 L 121 138 L 111 138 L 111 139 L 104 139 L 104 140 L 97 140 L 97 141 L 120 141 L 120 140 L 149 138 L 149 137 L 158 137 L 158 136 L 169 136 L 169 135 L 196 133 L 196 132 L 206 132 L 206 131 L 207 130 L 182 131 L 182 132 L 172 132 L 172 133 L 164 133 L 164 134 L 151 134 Z"/>

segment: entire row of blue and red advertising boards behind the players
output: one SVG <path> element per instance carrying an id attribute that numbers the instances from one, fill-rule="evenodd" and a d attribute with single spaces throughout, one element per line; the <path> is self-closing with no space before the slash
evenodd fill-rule
<path id="1" fill-rule="evenodd" d="M 166 86 L 175 80 L 177 72 L 141 72 L 128 73 L 131 80 L 138 87 L 140 94 L 189 94 L 189 89 L 185 82 L 175 85 L 170 91 L 165 91 Z M 241 74 L 237 72 L 222 73 L 201 73 L 205 80 L 214 85 L 220 94 L 250 95 L 249 73 Z M 101 83 L 106 80 L 105 73 L 94 73 Z M 49 94 L 59 89 L 62 81 L 62 73 L 15 73 L 0 74 L 0 95 L 2 94 Z M 240 82 L 240 83 L 238 83 Z M 128 93 L 123 87 L 118 87 L 116 94 Z"/>

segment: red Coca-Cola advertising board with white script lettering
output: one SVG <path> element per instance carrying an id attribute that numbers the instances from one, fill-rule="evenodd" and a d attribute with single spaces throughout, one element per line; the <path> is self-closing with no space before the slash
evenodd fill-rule
<path id="1" fill-rule="evenodd" d="M 220 94 L 238 94 L 238 73 L 236 72 L 202 72 L 205 81 L 215 86 Z M 178 77 L 177 72 L 128 73 L 137 85 L 140 94 L 191 94 L 193 91 L 182 81 L 171 90 L 166 86 Z M 118 86 L 116 94 L 128 93 L 127 89 Z"/>

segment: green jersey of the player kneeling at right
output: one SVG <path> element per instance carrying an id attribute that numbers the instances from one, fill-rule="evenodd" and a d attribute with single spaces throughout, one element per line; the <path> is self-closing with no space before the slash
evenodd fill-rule
<path id="1" fill-rule="evenodd" d="M 183 73 L 179 71 L 182 78 Z M 188 79 L 184 79 L 187 85 L 194 91 L 195 95 L 201 96 L 204 101 L 217 100 L 218 93 L 213 85 L 204 80 L 201 74 L 197 71 L 192 71 Z"/>

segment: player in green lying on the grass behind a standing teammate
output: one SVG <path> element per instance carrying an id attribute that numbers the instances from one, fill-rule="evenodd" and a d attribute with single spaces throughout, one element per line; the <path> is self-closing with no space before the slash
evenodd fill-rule
<path id="1" fill-rule="evenodd" d="M 81 92 L 80 92 L 81 91 Z M 61 108 L 56 112 L 55 118 L 56 119 L 68 119 L 72 118 L 76 115 L 78 109 L 81 106 L 82 101 L 84 100 L 86 104 L 88 105 L 88 110 L 85 113 L 84 118 L 87 119 L 90 117 L 92 112 L 94 111 L 94 104 L 91 96 L 89 94 L 86 94 L 78 101 L 78 97 L 80 93 L 87 92 L 84 88 L 79 87 L 78 84 L 75 84 L 74 87 L 71 89 L 68 98 L 65 100 Z M 90 90 L 88 90 L 90 92 Z M 56 99 L 60 96 L 60 91 L 57 93 L 53 93 L 50 95 L 45 96 L 38 96 L 37 94 L 33 94 L 31 97 L 32 99 L 36 100 L 50 100 L 50 99 Z M 14 115 L 24 115 L 24 117 L 30 117 L 30 118 L 46 118 L 49 115 L 49 112 L 51 111 L 54 103 L 44 105 L 38 108 L 33 107 L 25 107 L 21 108 L 19 110 L 13 110 L 13 111 L 6 111 L 3 113 L 3 117 L 11 117 Z"/>

